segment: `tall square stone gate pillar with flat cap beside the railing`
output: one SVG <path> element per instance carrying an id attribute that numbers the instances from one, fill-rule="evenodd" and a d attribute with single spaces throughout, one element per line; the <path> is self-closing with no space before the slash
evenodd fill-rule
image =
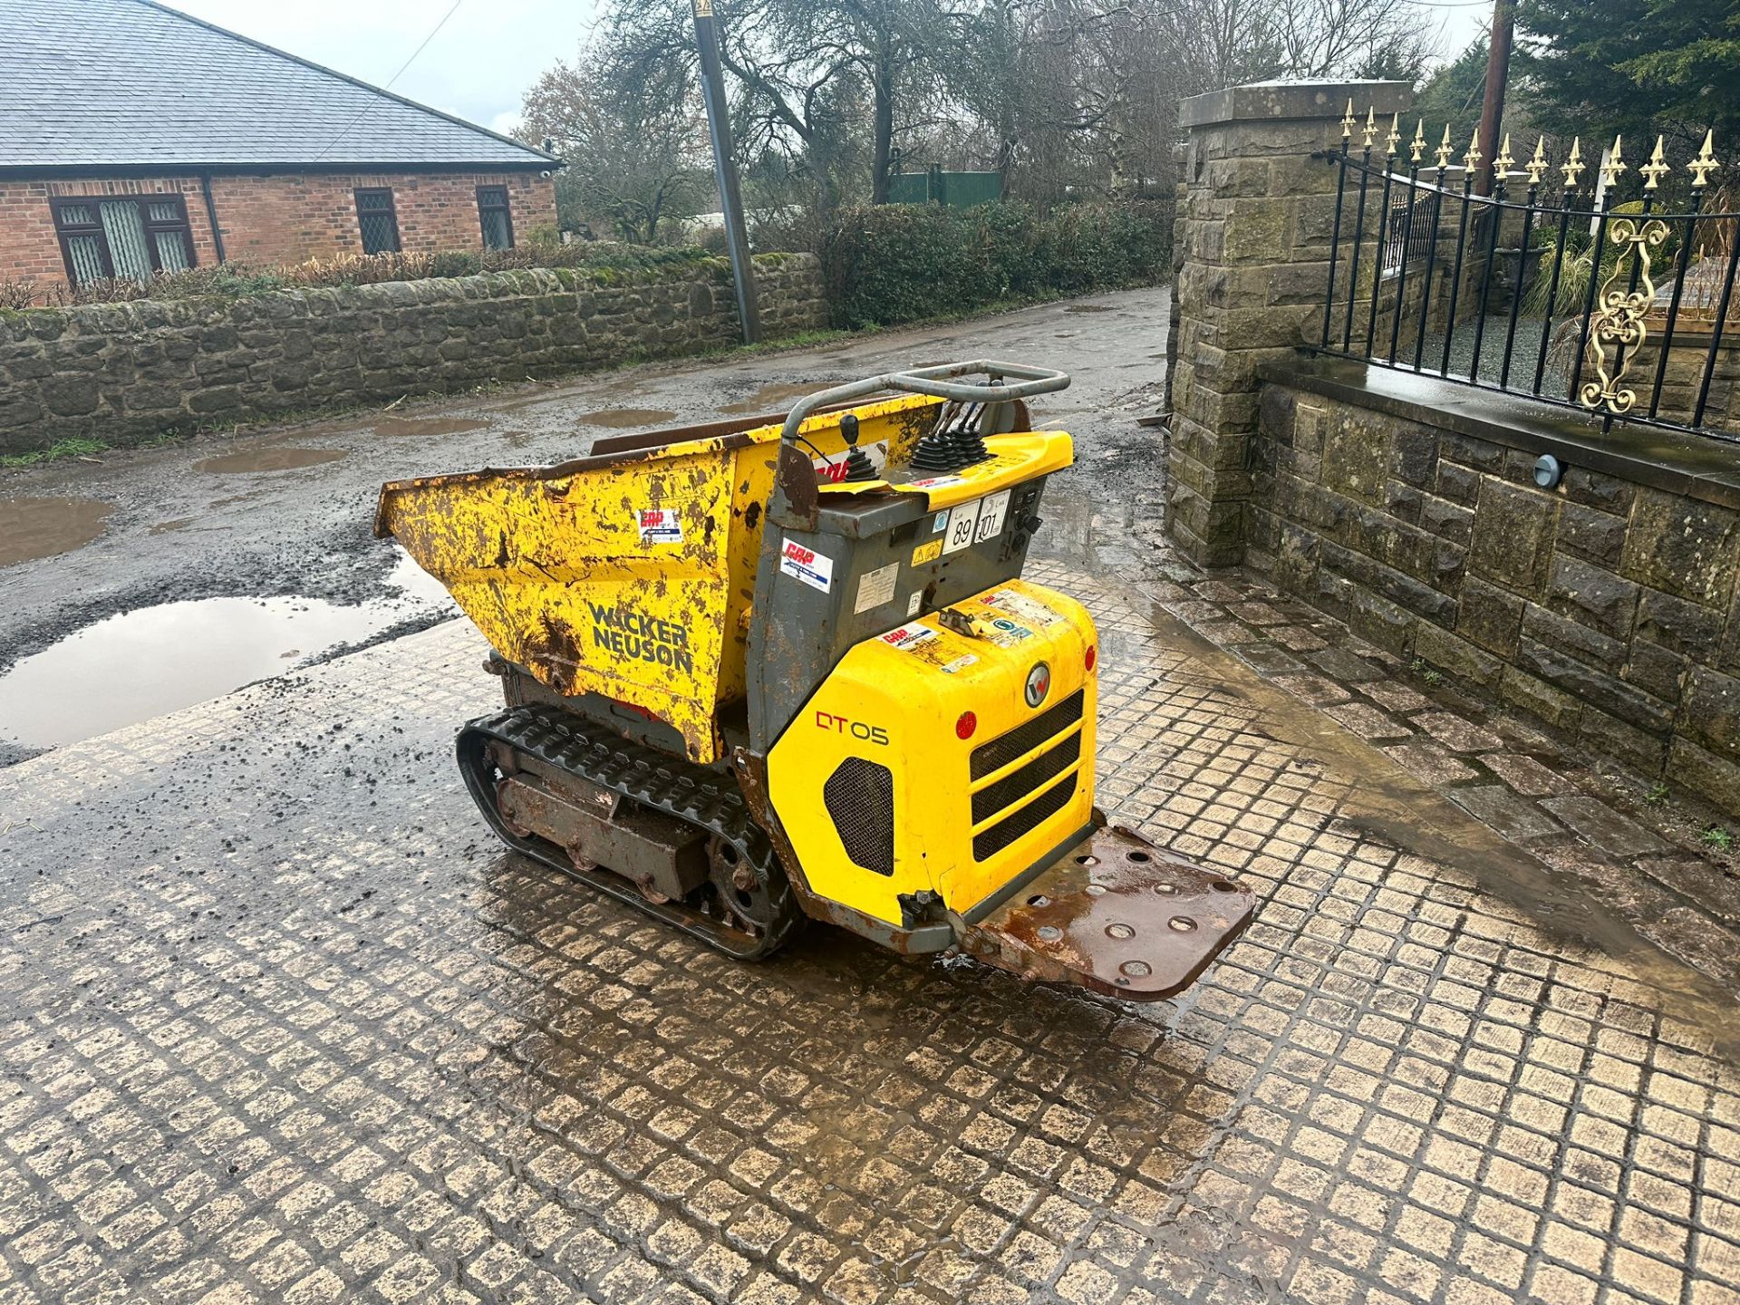
<path id="1" fill-rule="evenodd" d="M 1199 566 L 1244 559 L 1256 365 L 1322 331 L 1336 169 L 1312 153 L 1340 148 L 1348 99 L 1389 130 L 1409 97 L 1406 82 L 1263 82 L 1180 106 L 1166 529 Z"/>

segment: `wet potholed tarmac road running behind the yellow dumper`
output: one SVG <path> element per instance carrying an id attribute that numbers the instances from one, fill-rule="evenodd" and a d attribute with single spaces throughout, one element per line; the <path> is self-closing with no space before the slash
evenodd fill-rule
<path id="1" fill-rule="evenodd" d="M 600 435 L 783 409 L 799 395 L 896 365 L 992 353 L 1063 367 L 1075 385 L 1047 398 L 1042 416 L 1068 423 L 1084 449 L 1110 447 L 1129 438 L 1133 412 L 1159 402 L 1168 303 L 1164 289 L 1094 296 L 814 350 L 649 364 L 237 438 L 115 451 L 101 463 L 0 472 L 0 673 L 120 612 L 219 597 L 294 597 L 341 609 L 369 604 L 348 623 L 353 630 L 369 639 L 405 633 L 452 609 L 432 590 L 416 593 L 412 604 L 388 602 L 400 595 L 390 583 L 400 555 L 369 534 L 381 482 L 560 461 Z M 1096 311 L 1082 317 L 1084 308 Z M 1098 454 L 1084 461 L 1084 478 L 1103 470 Z M 378 619 L 383 611 L 390 621 Z M 153 619 L 167 623 L 172 614 Z M 303 647 L 301 635 L 285 633 L 280 642 L 304 656 L 324 651 Z M 350 647 L 357 639 L 332 642 Z M 188 612 L 183 644 L 184 665 L 176 673 L 141 677 L 143 708 L 195 701 L 169 687 L 184 682 L 204 656 L 195 612 Z M 212 665 L 214 693 L 258 675 L 242 672 L 233 659 Z M 70 659 L 63 684 L 33 682 L 30 691 L 56 687 L 80 693 Z M 3 694 L 0 680 L 0 705 Z M 33 746 L 21 731 L 7 731 L 0 712 L 0 766 Z"/>

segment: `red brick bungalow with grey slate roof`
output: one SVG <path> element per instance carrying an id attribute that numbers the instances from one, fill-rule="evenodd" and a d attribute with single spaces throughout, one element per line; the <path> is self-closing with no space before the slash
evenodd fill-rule
<path id="1" fill-rule="evenodd" d="M 0 0 L 0 280 L 510 247 L 560 162 L 151 0 Z"/>

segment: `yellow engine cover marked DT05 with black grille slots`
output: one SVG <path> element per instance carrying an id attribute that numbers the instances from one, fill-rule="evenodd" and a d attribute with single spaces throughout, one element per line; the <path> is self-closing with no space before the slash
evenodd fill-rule
<path id="1" fill-rule="evenodd" d="M 971 635 L 931 614 L 853 647 L 767 757 L 809 889 L 889 924 L 922 889 L 969 910 L 1093 814 L 1086 609 L 1011 579 L 954 611 Z"/>

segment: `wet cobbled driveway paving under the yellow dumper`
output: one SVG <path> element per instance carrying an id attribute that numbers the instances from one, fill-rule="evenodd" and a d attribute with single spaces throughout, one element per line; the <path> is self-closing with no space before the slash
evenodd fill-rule
<path id="1" fill-rule="evenodd" d="M 743 967 L 499 856 L 444 625 L 0 774 L 0 1305 L 1740 1302 L 1731 1011 L 1032 574 L 1105 632 L 1101 802 L 1262 893 L 1185 997 Z"/>

